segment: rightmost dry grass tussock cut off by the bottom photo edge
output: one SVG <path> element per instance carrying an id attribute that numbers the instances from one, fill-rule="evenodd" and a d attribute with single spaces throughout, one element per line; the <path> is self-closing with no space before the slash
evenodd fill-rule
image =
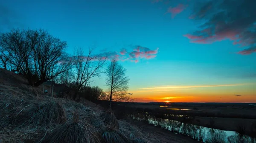
<path id="1" fill-rule="evenodd" d="M 128 138 L 118 129 L 106 127 L 101 132 L 102 143 L 129 143 Z"/>

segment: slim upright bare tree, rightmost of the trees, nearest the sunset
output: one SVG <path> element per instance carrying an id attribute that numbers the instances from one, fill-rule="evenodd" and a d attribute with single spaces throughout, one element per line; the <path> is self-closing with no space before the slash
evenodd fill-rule
<path id="1" fill-rule="evenodd" d="M 110 108 L 113 101 L 128 100 L 127 90 L 129 88 L 128 76 L 125 76 L 126 69 L 118 64 L 117 59 L 113 59 L 106 69 L 106 85 L 110 94 Z"/>

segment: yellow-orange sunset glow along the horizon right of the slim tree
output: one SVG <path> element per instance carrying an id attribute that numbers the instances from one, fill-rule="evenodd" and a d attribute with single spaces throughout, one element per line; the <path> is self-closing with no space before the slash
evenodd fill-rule
<path id="1" fill-rule="evenodd" d="M 256 83 L 138 88 L 135 102 L 236 102 L 256 103 Z M 239 95 L 239 96 L 237 96 Z"/>

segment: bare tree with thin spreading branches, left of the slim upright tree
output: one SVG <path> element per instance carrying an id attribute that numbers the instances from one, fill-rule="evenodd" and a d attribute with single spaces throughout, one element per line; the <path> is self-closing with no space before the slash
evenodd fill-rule
<path id="1" fill-rule="evenodd" d="M 81 48 L 76 48 L 75 50 L 73 62 L 76 75 L 76 94 L 73 99 L 76 99 L 81 87 L 88 86 L 90 79 L 99 77 L 100 74 L 104 72 L 102 67 L 105 65 L 107 58 L 100 54 L 94 55 L 93 50 L 95 50 L 95 48 L 89 48 L 87 55 L 84 54 Z"/>

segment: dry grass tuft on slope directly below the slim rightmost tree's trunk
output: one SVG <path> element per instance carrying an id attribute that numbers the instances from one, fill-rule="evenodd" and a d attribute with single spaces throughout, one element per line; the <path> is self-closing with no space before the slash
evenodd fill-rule
<path id="1" fill-rule="evenodd" d="M 103 112 L 100 115 L 100 117 L 102 118 L 106 126 L 112 126 L 112 127 L 115 127 L 116 129 L 119 129 L 119 123 L 113 111 L 107 110 Z"/>

